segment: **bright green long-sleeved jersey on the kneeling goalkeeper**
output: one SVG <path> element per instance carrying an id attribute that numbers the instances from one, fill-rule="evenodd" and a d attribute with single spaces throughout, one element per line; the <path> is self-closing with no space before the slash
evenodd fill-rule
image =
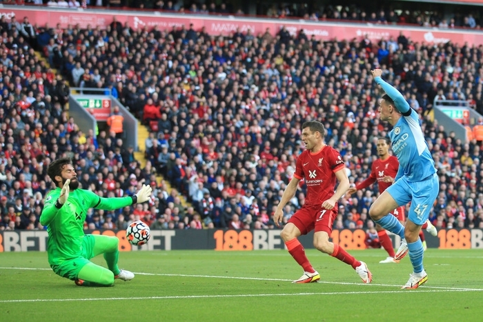
<path id="1" fill-rule="evenodd" d="M 89 208 L 116 210 L 132 204 L 131 197 L 101 198 L 89 190 L 76 189 L 69 193 L 66 203 L 55 207 L 61 188 L 50 191 L 46 196 L 40 223 L 47 225 L 47 253 L 50 265 L 59 265 L 66 259 L 81 256 L 84 237 L 83 224 Z"/>

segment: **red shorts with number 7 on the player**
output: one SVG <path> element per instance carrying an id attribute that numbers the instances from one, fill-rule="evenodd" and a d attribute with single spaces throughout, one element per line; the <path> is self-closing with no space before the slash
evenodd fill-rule
<path id="1" fill-rule="evenodd" d="M 333 210 L 302 207 L 288 219 L 288 222 L 299 228 L 303 235 L 315 229 L 315 232 L 326 232 L 331 237 L 335 217 L 337 212 Z"/>

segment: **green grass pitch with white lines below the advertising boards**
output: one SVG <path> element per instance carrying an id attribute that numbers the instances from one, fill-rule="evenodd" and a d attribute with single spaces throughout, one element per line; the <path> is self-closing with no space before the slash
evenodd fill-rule
<path id="1" fill-rule="evenodd" d="M 156 251 L 121 253 L 121 268 L 150 274 L 110 288 L 78 287 L 62 279 L 48 269 L 43 252 L 0 253 L 0 321 L 482 319 L 481 250 L 428 250 L 428 283 L 413 291 L 400 290 L 411 272 L 408 258 L 380 264 L 382 250 L 350 252 L 366 261 L 373 284 L 364 285 L 350 266 L 315 250 L 307 254 L 322 283 L 290 283 L 302 270 L 284 250 Z M 94 261 L 104 265 L 101 256 Z M 45 299 L 58 301 L 38 301 Z"/>

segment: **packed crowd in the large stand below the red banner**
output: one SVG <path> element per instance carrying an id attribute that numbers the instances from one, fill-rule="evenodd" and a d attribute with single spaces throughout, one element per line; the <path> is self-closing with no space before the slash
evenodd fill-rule
<path id="1" fill-rule="evenodd" d="M 341 152 L 352 183 L 368 176 L 375 141 L 389 130 L 377 117 L 382 93 L 369 72 L 377 66 L 420 113 L 441 182 L 431 221 L 483 228 L 482 142 L 461 142 L 431 118 L 443 97 L 466 99 L 483 113 L 483 46 L 423 46 L 403 32 L 378 43 L 315 41 L 285 29 L 277 37 L 214 37 L 190 26 L 132 30 L 114 19 L 105 30 L 46 26 L 28 39 L 43 46 L 55 75 L 19 25 L 0 23 L 0 229 L 43 229 L 46 167 L 61 156 L 101 196 L 130 195 L 142 183 L 154 188 L 150 203 L 92 210 L 86 229 L 124 229 L 134 219 L 157 229 L 274 228 L 271 216 L 304 149 L 304 121 L 326 125 L 326 143 Z M 109 88 L 150 128 L 146 167 L 115 133 L 95 137 L 68 118 L 66 79 Z M 174 187 L 170 193 L 157 173 Z M 305 191 L 300 185 L 285 221 Z M 377 186 L 346 196 L 334 227 L 366 228 L 376 197 Z"/>

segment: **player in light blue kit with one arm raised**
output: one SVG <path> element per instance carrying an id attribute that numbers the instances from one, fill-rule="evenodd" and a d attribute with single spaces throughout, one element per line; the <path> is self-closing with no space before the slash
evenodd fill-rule
<path id="1" fill-rule="evenodd" d="M 380 99 L 380 119 L 393 125 L 389 137 L 400 165 L 393 185 L 371 205 L 369 214 L 376 223 L 402 238 L 395 259 L 400 260 L 409 253 L 413 273 L 402 288 L 414 289 L 428 280 L 423 268 L 424 250 L 419 233 L 421 226 L 428 219 L 440 191 L 440 184 L 417 112 L 410 108 L 400 92 L 382 80 L 382 70 L 376 69 L 371 72 L 375 82 L 386 92 Z M 411 208 L 404 227 L 389 213 L 410 201 Z"/>

